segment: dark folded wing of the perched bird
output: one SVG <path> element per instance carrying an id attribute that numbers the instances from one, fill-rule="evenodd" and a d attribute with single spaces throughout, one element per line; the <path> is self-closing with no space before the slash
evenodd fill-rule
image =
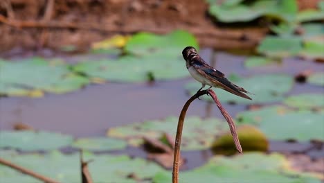
<path id="1" fill-rule="evenodd" d="M 225 78 L 224 73 L 218 71 L 217 69 L 214 69 L 213 67 L 210 67 L 208 64 L 206 64 L 206 62 L 204 62 L 204 60 L 203 62 L 201 62 L 201 60 L 193 59 L 191 65 L 198 71 L 198 73 L 201 74 L 201 76 L 208 78 L 210 81 L 214 82 L 215 85 L 217 85 L 218 87 L 237 96 L 241 96 L 243 98 L 252 100 L 249 96 L 244 94 L 247 93 L 244 88 L 234 85 L 227 78 Z"/>

